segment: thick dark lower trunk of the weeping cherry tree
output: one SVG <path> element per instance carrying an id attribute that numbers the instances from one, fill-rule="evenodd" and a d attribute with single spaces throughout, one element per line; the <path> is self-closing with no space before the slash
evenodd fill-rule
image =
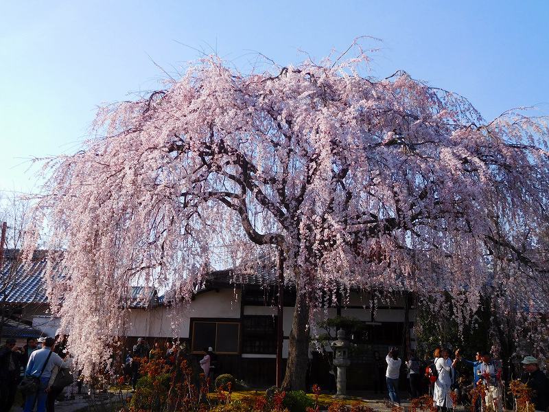
<path id="1" fill-rule="evenodd" d="M 288 345 L 288 361 L 282 381 L 282 389 L 285 391 L 305 391 L 307 389 L 307 366 L 309 364 L 309 307 L 305 295 L 296 294 L 296 308 L 290 332 Z"/>

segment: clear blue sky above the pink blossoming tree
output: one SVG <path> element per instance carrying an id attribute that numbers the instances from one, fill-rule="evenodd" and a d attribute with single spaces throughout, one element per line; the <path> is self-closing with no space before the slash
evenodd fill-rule
<path id="1" fill-rule="evenodd" d="M 539 104 L 549 114 L 549 1 L 3 1 L 0 190 L 32 190 L 30 157 L 77 150 L 95 106 L 157 87 L 198 53 L 281 65 L 382 38 L 373 75 L 465 95 L 492 118 Z M 178 43 L 179 42 L 179 43 Z"/>

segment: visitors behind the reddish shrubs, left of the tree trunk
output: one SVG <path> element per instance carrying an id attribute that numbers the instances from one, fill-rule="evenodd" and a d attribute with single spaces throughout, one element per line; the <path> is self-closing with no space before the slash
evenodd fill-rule
<path id="1" fill-rule="evenodd" d="M 140 377 L 139 366 L 144 360 L 150 361 L 153 359 L 163 358 L 168 365 L 174 365 L 174 363 L 176 363 L 178 353 L 183 350 L 183 347 L 186 349 L 186 346 L 184 346 L 185 343 L 170 343 L 170 341 L 166 341 L 165 345 L 165 349 L 162 350 L 160 343 L 155 342 L 151 349 L 145 339 L 139 338 L 137 339 L 137 343 L 133 345 L 132 349 L 128 350 L 124 361 L 124 371 L 126 376 L 130 376 L 130 382 L 134 391 L 136 389 L 137 380 L 139 380 Z M 213 348 L 211 346 L 205 348 L 202 350 L 202 354 L 200 356 L 202 356 L 202 358 L 198 360 L 198 364 L 202 369 L 202 373 L 205 378 L 213 380 L 215 378 L 215 374 L 219 373 L 218 358 L 213 352 Z"/>

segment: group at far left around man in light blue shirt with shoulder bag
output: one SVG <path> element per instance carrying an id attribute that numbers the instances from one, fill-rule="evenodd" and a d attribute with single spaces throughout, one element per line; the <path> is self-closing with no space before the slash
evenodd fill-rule
<path id="1" fill-rule="evenodd" d="M 0 347 L 0 411 L 9 411 L 22 381 L 34 380 L 36 390 L 27 393 L 23 411 L 54 412 L 55 402 L 65 389 L 65 380 L 58 378 L 71 367 L 66 351 L 67 336 L 28 338 L 27 344 L 16 346 L 15 339 L 6 339 Z M 24 383 L 24 382 L 23 382 Z"/>

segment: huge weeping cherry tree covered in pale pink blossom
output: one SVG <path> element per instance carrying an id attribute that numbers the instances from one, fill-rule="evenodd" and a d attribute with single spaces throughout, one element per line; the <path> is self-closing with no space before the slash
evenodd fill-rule
<path id="1" fill-rule="evenodd" d="M 286 388 L 305 386 L 314 315 L 349 290 L 444 294 L 462 323 L 497 290 L 509 333 L 531 332 L 549 310 L 545 119 L 487 122 L 404 71 L 364 76 L 357 56 L 251 74 L 203 58 L 100 108 L 82 150 L 49 161 L 32 230 L 47 226 L 51 267 L 67 269 L 47 275 L 49 301 L 84 374 L 127 326 L 132 284 L 183 305 L 220 242 L 283 253 L 297 290 Z"/>

